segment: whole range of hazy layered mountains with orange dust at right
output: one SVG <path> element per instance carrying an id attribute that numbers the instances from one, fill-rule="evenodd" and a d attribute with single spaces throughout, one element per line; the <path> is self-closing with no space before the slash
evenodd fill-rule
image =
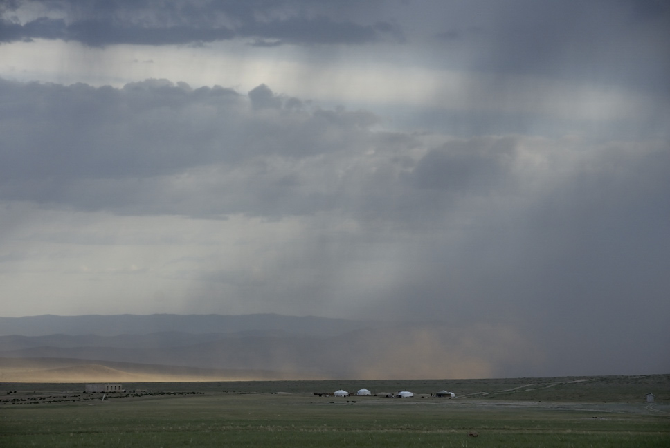
<path id="1" fill-rule="evenodd" d="M 111 368 L 134 363 L 293 379 L 391 379 L 523 376 L 519 366 L 541 360 L 541 353 L 509 328 L 470 323 L 44 315 L 0 317 L 0 358 L 0 373 L 9 360 L 67 359 Z"/>

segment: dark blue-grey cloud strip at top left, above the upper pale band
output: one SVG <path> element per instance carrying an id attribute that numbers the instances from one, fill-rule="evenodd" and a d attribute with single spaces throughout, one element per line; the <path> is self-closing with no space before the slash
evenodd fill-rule
<path id="1" fill-rule="evenodd" d="M 401 36 L 397 25 L 385 21 L 361 25 L 325 15 L 294 15 L 298 12 L 293 3 L 296 2 L 44 3 L 66 12 L 67 21 L 41 17 L 22 25 L 4 19 L 0 21 L 0 42 L 62 39 L 98 47 L 159 46 L 250 37 L 257 39 L 255 45 L 268 46 L 265 39 L 272 39 L 273 45 L 364 44 L 383 35 Z M 310 6 L 318 12 L 318 3 Z M 161 8 L 161 12 L 154 8 Z M 259 19 L 260 16 L 264 18 Z"/>

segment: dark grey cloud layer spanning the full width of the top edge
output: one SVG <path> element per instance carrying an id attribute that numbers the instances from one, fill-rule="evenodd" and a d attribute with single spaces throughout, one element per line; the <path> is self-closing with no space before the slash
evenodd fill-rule
<path id="1" fill-rule="evenodd" d="M 42 17 L 20 21 L 15 12 L 23 5 L 43 11 Z M 15 6 L 6 6 L 0 17 L 0 42 L 39 38 L 158 46 L 243 38 L 260 47 L 404 42 L 395 51 L 430 55 L 426 64 L 433 66 L 628 83 L 668 94 L 670 8 L 660 1 L 63 0 Z"/>

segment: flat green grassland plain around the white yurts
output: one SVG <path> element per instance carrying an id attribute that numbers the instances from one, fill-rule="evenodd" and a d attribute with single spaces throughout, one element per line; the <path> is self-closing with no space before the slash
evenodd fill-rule
<path id="1" fill-rule="evenodd" d="M 124 386 L 101 400 L 82 384 L 0 384 L 0 446 L 670 446 L 670 375 Z M 313 395 L 341 387 L 459 398 Z"/>

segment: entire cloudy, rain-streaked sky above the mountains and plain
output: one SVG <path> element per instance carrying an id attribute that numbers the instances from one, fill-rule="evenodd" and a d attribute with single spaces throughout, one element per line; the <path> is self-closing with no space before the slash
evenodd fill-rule
<path id="1" fill-rule="evenodd" d="M 668 48 L 661 0 L 0 1 L 0 315 L 442 321 L 667 373 Z"/>

